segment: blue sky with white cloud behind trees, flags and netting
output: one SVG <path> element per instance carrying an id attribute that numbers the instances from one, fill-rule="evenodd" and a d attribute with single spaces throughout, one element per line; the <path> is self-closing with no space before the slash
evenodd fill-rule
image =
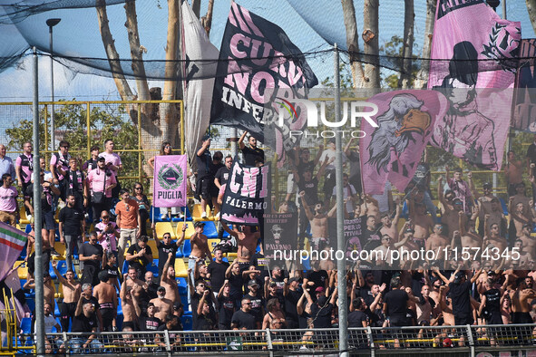
<path id="1" fill-rule="evenodd" d="M 7 2 L 8 0 L 5 0 Z M 15 1 L 15 0 L 14 0 Z M 505 1 L 505 0 L 502 0 Z M 332 43 L 345 43 L 344 23 L 342 21 L 341 3 L 338 0 L 238 0 L 249 11 L 265 17 L 283 28 L 289 38 L 302 52 L 326 50 Z M 207 1 L 203 0 L 201 14 L 205 14 Z M 400 0 L 382 1 L 380 5 L 380 45 L 390 40 L 394 34 L 402 35 L 404 10 Z M 140 24 L 141 44 L 147 47 L 145 59 L 163 59 L 165 33 L 167 26 L 167 7 L 165 0 L 160 0 L 161 8 L 154 1 L 138 1 L 138 19 Z M 356 9 L 362 8 L 363 0 L 356 0 Z M 230 2 L 216 0 L 210 41 L 219 48 L 221 37 L 229 14 Z M 300 15 L 303 14 L 303 17 Z M 321 15 L 318 15 L 321 14 Z M 502 15 L 502 8 L 498 9 Z M 534 37 L 534 32 L 526 11 L 524 0 L 508 0 L 508 19 L 521 21 L 523 38 Z M 122 5 L 109 5 L 108 15 L 111 19 L 112 34 L 116 46 L 123 58 L 129 58 L 128 40 L 124 23 Z M 54 50 L 66 56 L 86 56 L 105 58 L 97 16 L 94 8 L 62 9 L 45 14 L 36 14 L 17 24 L 17 28 L 27 43 L 35 44 L 40 51 L 48 48 L 48 29 L 44 24 L 46 18 L 61 17 L 62 22 L 54 27 Z M 356 15 L 362 32 L 362 14 Z M 305 18 L 305 20 L 304 20 Z M 424 0 L 415 1 L 415 43 L 420 49 L 424 34 Z M 400 21 L 393 21 L 399 19 Z M 307 21 L 306 21 L 307 20 Z M 362 45 L 362 41 L 360 43 Z M 344 60 L 344 58 L 343 58 Z M 307 62 L 321 82 L 333 75 L 331 55 L 320 58 L 307 58 Z M 41 101 L 51 99 L 50 57 L 39 58 L 39 95 Z M 32 56 L 24 57 L 17 67 L 0 72 L 0 101 L 31 101 Z M 135 90 L 133 82 L 132 88 Z M 150 87 L 162 86 L 161 82 L 150 81 Z M 61 63 L 54 62 L 55 99 L 66 100 L 116 100 L 117 91 L 111 78 L 73 72 Z"/>

